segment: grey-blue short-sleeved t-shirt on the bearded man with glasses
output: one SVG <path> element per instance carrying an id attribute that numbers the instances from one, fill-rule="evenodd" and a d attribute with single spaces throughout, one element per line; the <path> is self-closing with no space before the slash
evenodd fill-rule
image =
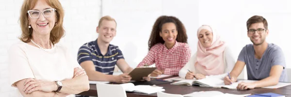
<path id="1" fill-rule="evenodd" d="M 281 73 L 279 81 L 287 81 L 285 57 L 282 49 L 275 44 L 268 44 L 268 47 L 263 53 L 261 59 L 257 59 L 255 57 L 255 49 L 253 44 L 246 45 L 243 47 L 238 61 L 245 63 L 248 80 L 265 79 L 270 76 L 272 66 L 282 65 L 284 69 Z"/>

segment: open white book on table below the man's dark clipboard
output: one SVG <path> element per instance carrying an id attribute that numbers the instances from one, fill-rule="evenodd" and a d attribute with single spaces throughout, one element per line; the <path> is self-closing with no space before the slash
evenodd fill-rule
<path id="1" fill-rule="evenodd" d="M 160 91 L 165 91 L 165 89 L 163 89 L 163 87 L 160 87 L 160 86 L 150 86 L 150 85 L 136 85 L 136 86 L 134 86 L 133 83 L 124 83 L 124 84 L 120 84 L 120 85 L 127 92 L 152 94 L 152 93 L 157 93 Z"/>

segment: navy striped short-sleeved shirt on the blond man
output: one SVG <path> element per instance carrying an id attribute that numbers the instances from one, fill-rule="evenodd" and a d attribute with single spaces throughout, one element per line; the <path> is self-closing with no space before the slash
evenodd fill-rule
<path id="1" fill-rule="evenodd" d="M 118 46 L 109 44 L 107 53 L 103 56 L 98 47 L 97 40 L 85 43 L 78 51 L 78 63 L 93 61 L 96 71 L 103 74 L 113 74 L 117 60 L 124 59 Z"/>

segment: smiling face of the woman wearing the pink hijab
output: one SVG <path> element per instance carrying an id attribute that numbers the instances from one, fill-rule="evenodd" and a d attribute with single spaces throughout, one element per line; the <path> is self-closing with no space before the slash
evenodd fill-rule
<path id="1" fill-rule="evenodd" d="M 209 48 L 211 46 L 212 39 L 213 39 L 212 32 L 205 29 L 202 29 L 199 32 L 198 40 L 200 41 L 200 43 L 202 44 L 204 48 Z"/>

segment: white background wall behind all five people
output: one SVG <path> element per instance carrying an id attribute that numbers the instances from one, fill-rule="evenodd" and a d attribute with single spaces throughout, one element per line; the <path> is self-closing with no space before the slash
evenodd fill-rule
<path id="1" fill-rule="evenodd" d="M 0 0 L 0 96 L 15 97 L 8 84 L 7 49 L 19 41 L 18 24 L 23 0 Z M 285 53 L 291 67 L 288 41 L 291 27 L 290 0 L 60 0 L 65 9 L 65 37 L 61 43 L 77 56 L 79 47 L 97 38 L 95 32 L 101 16 L 110 15 L 117 21 L 117 35 L 112 44 L 123 51 L 126 61 L 135 67 L 147 54 L 147 42 L 158 16 L 177 16 L 185 25 L 192 54 L 196 51 L 197 28 L 202 24 L 216 27 L 232 49 L 235 59 L 243 46 L 251 43 L 246 21 L 253 15 L 264 16 L 269 23 L 269 43 Z"/>

